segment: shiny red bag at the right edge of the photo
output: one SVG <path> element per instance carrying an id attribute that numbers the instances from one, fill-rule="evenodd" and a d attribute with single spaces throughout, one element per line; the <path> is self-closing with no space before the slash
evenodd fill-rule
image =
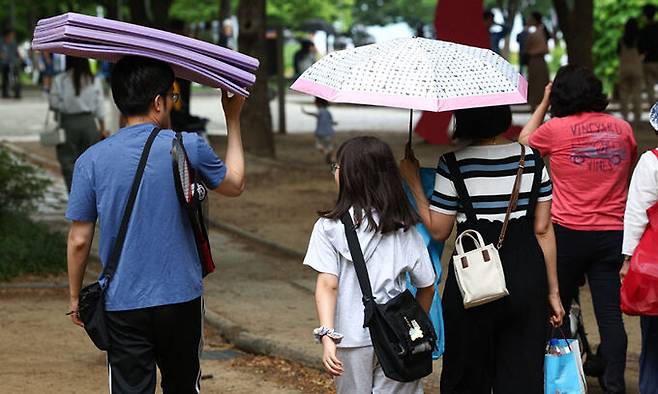
<path id="1" fill-rule="evenodd" d="M 627 315 L 658 316 L 658 203 L 647 216 L 649 224 L 621 285 L 621 310 Z"/>

